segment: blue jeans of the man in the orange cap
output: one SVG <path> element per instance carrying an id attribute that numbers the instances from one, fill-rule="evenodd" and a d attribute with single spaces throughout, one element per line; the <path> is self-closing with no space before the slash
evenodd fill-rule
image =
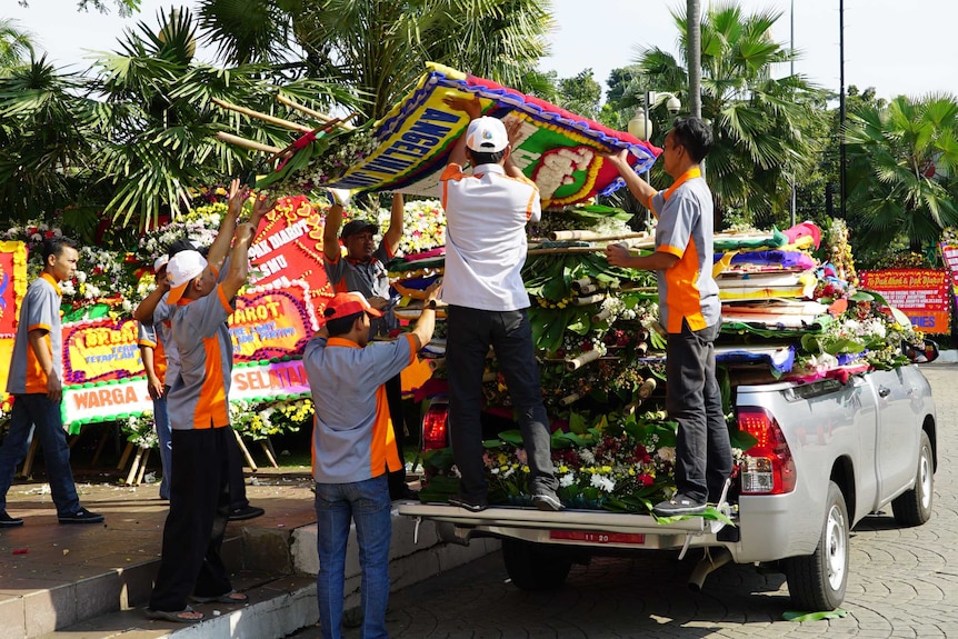
<path id="1" fill-rule="evenodd" d="M 353 483 L 316 485 L 316 576 L 322 639 L 342 637 L 346 545 L 350 519 L 356 521 L 362 568 L 361 639 L 383 639 L 389 601 L 389 540 L 392 537 L 389 482 L 386 475 Z"/>

